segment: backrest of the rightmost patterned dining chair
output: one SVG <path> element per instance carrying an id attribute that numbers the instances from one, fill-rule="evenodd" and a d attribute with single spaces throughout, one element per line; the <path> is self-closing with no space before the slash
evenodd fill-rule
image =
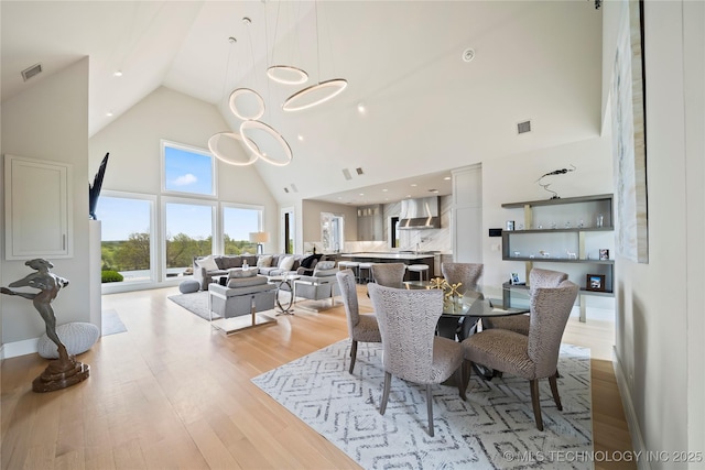
<path id="1" fill-rule="evenodd" d="M 577 284 L 563 281 L 557 287 L 539 287 L 531 294 L 528 353 L 536 379 L 555 373 L 561 339 L 577 292 Z"/>

